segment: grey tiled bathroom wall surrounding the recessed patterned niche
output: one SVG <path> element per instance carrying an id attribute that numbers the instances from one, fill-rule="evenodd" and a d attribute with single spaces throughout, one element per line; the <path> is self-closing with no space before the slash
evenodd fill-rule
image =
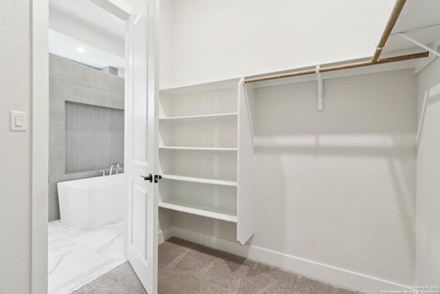
<path id="1" fill-rule="evenodd" d="M 50 55 L 49 98 L 49 221 L 52 221 L 60 218 L 56 183 L 100 176 L 98 170 L 104 168 L 66 173 L 65 101 L 124 109 L 124 79 Z"/>

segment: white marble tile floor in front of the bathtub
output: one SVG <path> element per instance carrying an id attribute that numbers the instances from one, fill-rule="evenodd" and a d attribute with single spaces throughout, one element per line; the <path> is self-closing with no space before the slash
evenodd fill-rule
<path id="1" fill-rule="evenodd" d="M 69 294 L 126 261 L 124 222 L 81 231 L 49 223 L 49 294 Z"/>

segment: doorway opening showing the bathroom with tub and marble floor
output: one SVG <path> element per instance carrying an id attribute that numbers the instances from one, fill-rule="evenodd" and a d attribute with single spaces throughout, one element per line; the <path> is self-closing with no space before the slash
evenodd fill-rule
<path id="1" fill-rule="evenodd" d="M 126 21 L 95 2 L 49 0 L 48 293 L 126 261 Z"/>

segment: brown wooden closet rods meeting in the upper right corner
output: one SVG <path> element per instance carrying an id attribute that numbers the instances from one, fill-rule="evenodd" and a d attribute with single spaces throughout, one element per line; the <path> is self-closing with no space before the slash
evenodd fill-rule
<path id="1" fill-rule="evenodd" d="M 416 54 L 389 57 L 386 59 L 379 59 L 380 53 L 382 52 L 382 48 L 384 47 L 386 41 L 388 40 L 388 37 L 391 34 L 391 31 L 393 30 L 393 27 L 397 21 L 397 18 L 399 17 L 402 8 L 404 8 L 405 2 L 406 2 L 406 0 L 397 0 L 396 1 L 395 6 L 393 8 L 393 12 L 391 12 L 391 16 L 388 19 L 388 23 L 386 23 L 385 30 L 382 33 L 382 37 L 380 38 L 379 44 L 377 45 L 377 48 L 376 48 L 371 60 L 360 61 L 360 62 L 355 62 L 355 63 L 346 63 L 346 64 L 342 64 L 342 65 L 320 67 L 319 72 L 332 72 L 334 70 L 347 70 L 349 68 L 354 68 L 354 67 L 362 67 L 362 66 L 369 66 L 369 65 L 375 65 L 375 64 L 391 63 L 391 62 L 396 62 L 396 61 L 406 61 L 406 60 L 411 60 L 411 59 L 419 59 L 419 58 L 423 58 L 423 57 L 428 57 L 429 52 L 422 52 L 422 53 L 416 53 Z M 298 72 L 287 72 L 285 74 L 273 74 L 270 76 L 261 76 L 258 78 L 245 78 L 244 82 L 245 83 L 254 83 L 254 82 L 274 80 L 276 78 L 289 78 L 291 76 L 303 76 L 305 74 L 316 74 L 316 70 L 315 69 L 300 70 Z"/>

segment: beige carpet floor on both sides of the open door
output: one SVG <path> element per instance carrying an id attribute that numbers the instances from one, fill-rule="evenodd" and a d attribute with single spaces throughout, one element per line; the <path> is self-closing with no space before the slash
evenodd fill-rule
<path id="1" fill-rule="evenodd" d="M 158 292 L 161 294 L 360 293 L 177 238 L 159 245 L 158 268 Z M 74 293 L 146 292 L 126 262 Z"/>

